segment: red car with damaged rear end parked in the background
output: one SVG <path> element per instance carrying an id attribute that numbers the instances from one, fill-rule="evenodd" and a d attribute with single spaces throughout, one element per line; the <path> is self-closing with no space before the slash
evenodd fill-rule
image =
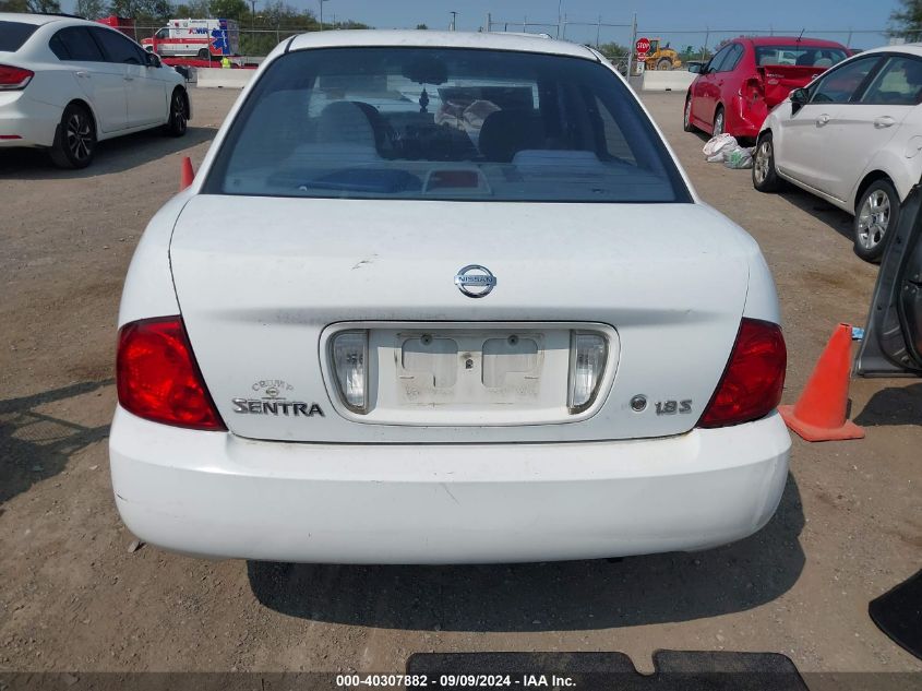
<path id="1" fill-rule="evenodd" d="M 735 38 L 707 63 L 688 65 L 698 76 L 685 96 L 685 131 L 755 139 L 775 106 L 850 55 L 833 40 Z"/>

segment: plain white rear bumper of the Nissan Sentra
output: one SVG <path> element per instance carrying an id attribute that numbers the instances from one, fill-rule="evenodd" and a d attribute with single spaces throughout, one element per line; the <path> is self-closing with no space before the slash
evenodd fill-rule
<path id="1" fill-rule="evenodd" d="M 260 442 L 116 413 L 116 503 L 140 538 L 206 557 L 330 563 L 587 559 L 708 548 L 765 525 L 777 413 L 680 437 L 544 444 Z"/>

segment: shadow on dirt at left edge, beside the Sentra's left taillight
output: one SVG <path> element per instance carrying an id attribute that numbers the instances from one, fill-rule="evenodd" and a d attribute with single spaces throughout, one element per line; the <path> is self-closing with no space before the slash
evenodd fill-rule
<path id="1" fill-rule="evenodd" d="M 71 454 L 109 434 L 108 425 L 83 427 L 44 415 L 36 408 L 111 383 L 112 380 L 84 382 L 0 401 L 0 503 L 57 475 Z"/>

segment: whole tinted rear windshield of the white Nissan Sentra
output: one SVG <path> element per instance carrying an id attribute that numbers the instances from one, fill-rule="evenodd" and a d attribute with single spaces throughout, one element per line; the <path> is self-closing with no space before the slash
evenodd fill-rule
<path id="1" fill-rule="evenodd" d="M 649 119 L 598 62 L 433 48 L 280 57 L 235 119 L 204 191 L 690 201 Z"/>

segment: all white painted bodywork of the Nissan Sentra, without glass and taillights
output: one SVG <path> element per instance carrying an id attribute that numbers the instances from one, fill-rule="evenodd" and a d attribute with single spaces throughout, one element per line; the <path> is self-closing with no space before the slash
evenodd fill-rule
<path id="1" fill-rule="evenodd" d="M 778 300 L 755 241 L 691 186 L 693 203 L 650 205 L 200 193 L 275 59 L 289 48 L 374 45 L 597 59 L 546 38 L 438 32 L 324 32 L 276 48 L 192 187 L 152 219 L 129 271 L 119 325 L 181 313 L 230 431 L 173 428 L 119 407 L 110 458 L 128 527 L 200 556 L 339 563 L 692 550 L 762 527 L 787 479 L 791 441 L 780 417 L 694 426 L 741 318 L 778 323 Z M 488 298 L 453 284 L 466 263 L 496 275 Z M 481 415 L 466 425 L 436 410 L 451 424 L 369 424 L 334 403 L 330 330 L 420 322 L 599 324 L 615 346 L 614 369 L 589 414 L 566 421 L 482 424 Z M 324 416 L 237 415 L 232 400 L 260 380 L 284 380 Z M 630 407 L 633 394 L 652 404 L 685 391 L 694 414 Z"/>

